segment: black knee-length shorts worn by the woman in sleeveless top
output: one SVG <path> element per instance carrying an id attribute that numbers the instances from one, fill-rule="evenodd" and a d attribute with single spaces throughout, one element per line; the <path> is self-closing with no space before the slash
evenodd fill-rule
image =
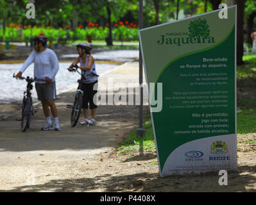
<path id="1" fill-rule="evenodd" d="M 83 90 L 83 109 L 88 109 L 88 103 L 90 104 L 90 109 L 98 108 L 97 106 L 97 97 L 94 97 L 94 95 L 97 93 L 97 90 L 93 90 L 93 86 L 98 83 L 98 81 L 95 81 L 93 83 L 81 83 L 81 90 Z M 98 86 L 96 86 L 98 88 Z"/>

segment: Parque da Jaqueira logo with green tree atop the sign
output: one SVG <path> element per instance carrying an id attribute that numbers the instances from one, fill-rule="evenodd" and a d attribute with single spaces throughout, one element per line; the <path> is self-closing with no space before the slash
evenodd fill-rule
<path id="1" fill-rule="evenodd" d="M 214 37 L 210 37 L 210 29 L 206 19 L 196 19 L 189 24 L 189 32 L 166 32 L 166 35 L 160 35 L 157 40 L 158 45 L 177 45 L 183 44 L 213 44 Z"/>

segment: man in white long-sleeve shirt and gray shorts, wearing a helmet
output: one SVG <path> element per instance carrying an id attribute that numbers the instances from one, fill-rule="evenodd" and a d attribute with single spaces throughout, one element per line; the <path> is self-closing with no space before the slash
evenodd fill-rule
<path id="1" fill-rule="evenodd" d="M 58 58 L 55 52 L 46 48 L 47 37 L 37 36 L 34 38 L 34 49 L 30 56 L 23 64 L 19 73 L 15 76 L 21 78 L 22 73 L 31 63 L 34 65 L 35 88 L 37 90 L 38 100 L 42 101 L 46 125 L 42 127 L 43 131 L 56 130 L 60 131 L 60 122 L 58 120 L 58 111 L 55 106 L 56 86 L 55 76 L 58 72 Z M 44 81 L 42 81 L 44 79 Z M 49 109 L 50 108 L 50 109 Z M 50 110 L 54 117 L 55 128 L 51 122 Z"/>

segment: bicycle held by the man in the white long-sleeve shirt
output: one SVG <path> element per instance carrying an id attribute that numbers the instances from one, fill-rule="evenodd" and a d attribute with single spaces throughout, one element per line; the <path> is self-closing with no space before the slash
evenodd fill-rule
<path id="1" fill-rule="evenodd" d="M 13 74 L 13 78 L 15 78 L 15 74 Z M 32 83 L 35 82 L 35 80 L 39 81 L 45 81 L 44 79 L 33 79 L 27 76 L 27 78 L 21 77 L 19 79 L 26 79 L 27 81 L 27 86 L 26 86 L 26 91 L 24 91 L 24 96 L 22 99 L 22 110 L 21 110 L 21 131 L 25 132 L 26 129 L 30 128 L 30 122 L 31 122 L 31 116 L 36 113 L 36 111 L 33 108 L 33 103 L 32 103 L 32 95 L 31 95 L 31 90 L 33 89 Z"/>

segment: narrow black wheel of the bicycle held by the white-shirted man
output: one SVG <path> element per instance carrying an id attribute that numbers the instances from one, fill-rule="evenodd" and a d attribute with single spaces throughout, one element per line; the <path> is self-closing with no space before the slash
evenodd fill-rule
<path id="1" fill-rule="evenodd" d="M 31 101 L 29 97 L 24 97 L 22 101 L 21 112 L 21 131 L 25 132 L 30 125 L 31 118 Z"/>

